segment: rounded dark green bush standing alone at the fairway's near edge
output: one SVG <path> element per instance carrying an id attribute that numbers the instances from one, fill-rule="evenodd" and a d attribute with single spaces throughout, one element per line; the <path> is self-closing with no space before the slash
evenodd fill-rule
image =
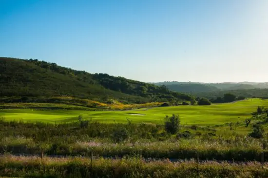
<path id="1" fill-rule="evenodd" d="M 175 134 L 176 132 L 178 132 L 179 128 L 180 128 L 179 115 L 172 114 L 172 117 L 169 117 L 167 115 L 165 118 L 166 131 L 171 134 Z"/>

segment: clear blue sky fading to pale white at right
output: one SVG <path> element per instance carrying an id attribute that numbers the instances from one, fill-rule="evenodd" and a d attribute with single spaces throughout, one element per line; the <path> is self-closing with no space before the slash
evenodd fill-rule
<path id="1" fill-rule="evenodd" d="M 0 56 L 144 82 L 267 82 L 268 0 L 0 0 Z"/>

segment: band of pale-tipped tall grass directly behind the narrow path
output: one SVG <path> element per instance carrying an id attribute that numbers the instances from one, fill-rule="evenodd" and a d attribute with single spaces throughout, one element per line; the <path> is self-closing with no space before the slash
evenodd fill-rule
<path id="1" fill-rule="evenodd" d="M 77 141 L 73 143 L 60 142 L 33 142 L 30 139 L 16 141 L 12 138 L 1 140 L 0 152 L 11 154 L 45 154 L 64 156 L 85 156 L 92 154 L 96 157 L 135 157 L 144 158 L 169 158 L 169 159 L 191 159 L 200 160 L 257 160 L 261 161 L 262 153 L 264 160 L 268 161 L 268 149 L 266 140 L 237 139 L 236 141 L 202 141 L 202 140 L 180 140 L 163 142 L 99 142 Z"/>

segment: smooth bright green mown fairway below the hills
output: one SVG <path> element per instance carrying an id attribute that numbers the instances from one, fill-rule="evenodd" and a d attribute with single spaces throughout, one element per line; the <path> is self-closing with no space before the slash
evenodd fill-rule
<path id="1" fill-rule="evenodd" d="M 86 111 L 86 110 L 35 110 L 35 109 L 1 109 L 0 117 L 6 120 L 24 120 L 41 122 L 77 121 L 78 115 L 84 119 L 92 118 L 99 122 L 123 122 L 126 118 L 133 123 L 163 122 L 165 115 L 179 114 L 182 124 L 218 125 L 228 122 L 244 121 L 258 106 L 268 107 L 268 100 L 248 99 L 235 103 L 215 104 L 211 106 L 177 106 L 134 109 L 131 111 Z M 144 114 L 130 115 L 130 113 Z"/>

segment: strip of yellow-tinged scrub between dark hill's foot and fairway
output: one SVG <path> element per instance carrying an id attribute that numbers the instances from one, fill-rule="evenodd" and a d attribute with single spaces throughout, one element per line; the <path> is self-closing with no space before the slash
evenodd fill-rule
<path id="1" fill-rule="evenodd" d="M 28 98 L 21 102 L 21 98 L 12 99 L 13 103 L 6 103 L 11 101 L 11 98 L 2 98 L 0 101 L 0 108 L 46 108 L 46 109 L 79 109 L 79 110 L 127 110 L 143 107 L 159 107 L 162 103 L 152 102 L 144 104 L 124 104 L 116 100 L 108 100 L 106 103 L 93 101 L 89 99 L 80 99 L 74 97 L 48 97 L 48 98 Z M 16 103 L 15 103 L 16 102 Z M 17 103 L 18 102 L 18 103 Z"/>

